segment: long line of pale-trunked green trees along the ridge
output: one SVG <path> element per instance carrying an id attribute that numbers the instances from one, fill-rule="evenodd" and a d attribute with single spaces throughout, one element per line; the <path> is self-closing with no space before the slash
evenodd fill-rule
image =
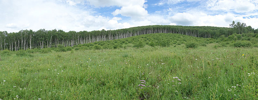
<path id="1" fill-rule="evenodd" d="M 171 26 L 171 25 L 151 25 L 141 27 L 131 27 L 128 29 L 118 30 L 101 30 L 101 31 L 69 31 L 63 30 L 20 30 L 19 32 L 8 33 L 0 31 L 0 50 L 26 50 L 35 48 L 50 48 L 63 45 L 64 47 L 73 47 L 74 45 L 93 43 L 95 41 L 106 41 L 122 39 L 143 34 L 152 33 L 178 33 L 193 37 L 219 38 L 221 35 L 228 37 L 234 33 L 258 33 L 258 29 L 251 26 L 246 27 L 244 23 L 230 24 L 226 27 L 210 26 Z"/>

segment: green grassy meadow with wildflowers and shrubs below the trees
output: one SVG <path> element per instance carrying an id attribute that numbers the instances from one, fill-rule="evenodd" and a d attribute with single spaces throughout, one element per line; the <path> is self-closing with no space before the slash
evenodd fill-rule
<path id="1" fill-rule="evenodd" d="M 0 99 L 257 99 L 257 51 L 164 33 L 1 51 Z"/>

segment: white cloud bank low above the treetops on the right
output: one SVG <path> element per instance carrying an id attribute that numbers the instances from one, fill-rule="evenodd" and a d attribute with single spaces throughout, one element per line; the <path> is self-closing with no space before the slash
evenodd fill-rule
<path id="1" fill-rule="evenodd" d="M 202 12 L 192 13 L 177 13 L 170 17 L 172 25 L 186 25 L 186 26 L 216 26 L 216 27 L 229 27 L 232 21 L 246 23 L 255 29 L 258 28 L 258 18 L 244 19 L 243 17 L 236 16 L 232 13 L 208 15 Z"/>

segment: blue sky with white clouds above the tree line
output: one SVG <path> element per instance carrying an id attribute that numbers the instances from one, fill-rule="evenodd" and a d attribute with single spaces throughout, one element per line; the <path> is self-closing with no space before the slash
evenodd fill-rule
<path id="1" fill-rule="evenodd" d="M 258 0 L 0 0 L 0 31 L 114 30 L 146 25 L 258 28 Z"/>

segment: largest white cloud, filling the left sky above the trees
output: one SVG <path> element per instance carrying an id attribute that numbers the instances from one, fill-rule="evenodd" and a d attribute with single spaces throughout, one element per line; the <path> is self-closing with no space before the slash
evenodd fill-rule
<path id="1" fill-rule="evenodd" d="M 22 29 L 62 29 L 64 31 L 92 31 L 101 27 L 120 29 L 131 25 L 119 23 L 122 18 L 93 15 L 90 8 L 82 10 L 79 1 L 23 0 L 0 1 L 0 31 L 18 32 Z"/>

